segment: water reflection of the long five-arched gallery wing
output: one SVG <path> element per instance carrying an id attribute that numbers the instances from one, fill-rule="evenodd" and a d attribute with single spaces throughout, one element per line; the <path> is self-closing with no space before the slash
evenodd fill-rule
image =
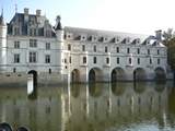
<path id="1" fill-rule="evenodd" d="M 66 130 L 73 131 L 102 131 L 112 126 L 120 128 L 120 123 L 131 124 L 150 119 L 164 124 L 162 112 L 167 111 L 168 100 L 165 85 L 153 83 L 78 85 L 71 87 L 69 97 Z"/>

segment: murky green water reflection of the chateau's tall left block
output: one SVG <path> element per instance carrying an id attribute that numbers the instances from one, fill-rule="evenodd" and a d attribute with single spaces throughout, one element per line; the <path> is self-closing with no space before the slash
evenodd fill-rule
<path id="1" fill-rule="evenodd" d="M 13 128 L 26 126 L 31 131 L 61 130 L 61 94 L 56 88 L 40 88 L 37 99 L 28 99 L 23 88 L 1 88 L 0 121 Z"/>

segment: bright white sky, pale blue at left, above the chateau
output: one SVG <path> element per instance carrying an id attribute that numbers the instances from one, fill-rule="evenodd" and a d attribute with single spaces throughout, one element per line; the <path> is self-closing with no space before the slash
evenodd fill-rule
<path id="1" fill-rule="evenodd" d="M 52 25 L 60 15 L 63 26 L 150 35 L 175 28 L 175 0 L 0 0 L 7 22 L 15 13 L 15 3 L 19 13 L 24 8 L 32 14 L 40 9 Z"/>

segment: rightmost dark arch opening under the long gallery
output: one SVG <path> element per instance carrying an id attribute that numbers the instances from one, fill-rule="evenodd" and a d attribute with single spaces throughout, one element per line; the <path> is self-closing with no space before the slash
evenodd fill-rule
<path id="1" fill-rule="evenodd" d="M 154 72 L 155 72 L 154 80 L 156 80 L 156 81 L 165 81 L 166 80 L 166 73 L 163 68 L 161 68 L 161 67 L 156 68 L 154 70 Z"/>

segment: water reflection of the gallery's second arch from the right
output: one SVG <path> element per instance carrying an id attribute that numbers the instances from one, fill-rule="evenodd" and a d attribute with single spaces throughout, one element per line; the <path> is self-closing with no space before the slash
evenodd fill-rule
<path id="1" fill-rule="evenodd" d="M 133 83 L 133 91 L 138 94 L 142 94 L 147 90 L 145 82 L 135 82 Z"/>

